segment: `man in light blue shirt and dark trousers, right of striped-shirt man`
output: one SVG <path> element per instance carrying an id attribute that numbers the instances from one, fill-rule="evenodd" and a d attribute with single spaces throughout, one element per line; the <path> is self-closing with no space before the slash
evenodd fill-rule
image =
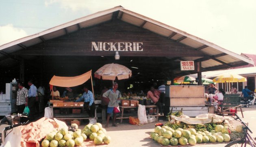
<path id="1" fill-rule="evenodd" d="M 32 80 L 28 81 L 28 86 L 30 86 L 28 90 L 28 108 L 30 110 L 29 120 L 31 121 L 35 118 L 37 87 L 33 84 Z"/>

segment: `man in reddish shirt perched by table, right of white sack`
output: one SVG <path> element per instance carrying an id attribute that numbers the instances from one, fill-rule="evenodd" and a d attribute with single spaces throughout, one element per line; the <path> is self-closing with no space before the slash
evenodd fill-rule
<path id="1" fill-rule="evenodd" d="M 150 90 L 148 91 L 148 99 L 151 99 L 154 103 L 154 105 L 157 105 L 159 112 L 161 115 L 163 115 L 163 104 L 161 103 L 160 99 L 160 91 L 156 90 L 154 86 L 150 87 Z"/>

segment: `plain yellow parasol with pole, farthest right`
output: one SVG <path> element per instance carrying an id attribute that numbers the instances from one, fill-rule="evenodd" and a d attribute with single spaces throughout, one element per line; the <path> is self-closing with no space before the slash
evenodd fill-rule
<path id="1" fill-rule="evenodd" d="M 240 76 L 235 73 L 225 73 L 223 75 L 219 75 L 216 78 L 213 79 L 213 82 L 216 83 L 225 83 L 228 82 L 230 85 L 230 82 L 246 82 L 246 78 L 243 76 Z M 229 93 L 230 93 L 230 88 L 229 88 Z"/>

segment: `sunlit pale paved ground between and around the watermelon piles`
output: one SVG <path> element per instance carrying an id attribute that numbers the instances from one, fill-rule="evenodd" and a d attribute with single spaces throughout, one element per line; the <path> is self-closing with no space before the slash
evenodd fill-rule
<path id="1" fill-rule="evenodd" d="M 249 123 L 249 128 L 254 132 L 252 136 L 256 137 L 256 105 L 250 108 L 243 108 L 244 122 Z M 241 112 L 238 112 L 241 116 Z M 163 119 L 162 119 L 163 120 Z M 166 123 L 163 121 L 162 123 Z M 112 141 L 108 147 L 161 147 L 158 143 L 149 138 L 150 132 L 154 131 L 155 122 L 135 126 L 128 123 L 128 120 L 125 120 L 123 124 L 119 124 L 118 127 L 109 127 L 106 128 L 107 133 L 111 136 Z M 82 124 L 79 128 L 83 128 L 85 123 Z M 94 146 L 92 141 L 86 143 L 87 146 Z M 218 147 L 224 147 L 226 144 L 218 144 Z M 101 145 L 106 146 L 106 145 Z M 207 144 L 199 145 L 200 147 L 216 147 L 216 144 Z"/>

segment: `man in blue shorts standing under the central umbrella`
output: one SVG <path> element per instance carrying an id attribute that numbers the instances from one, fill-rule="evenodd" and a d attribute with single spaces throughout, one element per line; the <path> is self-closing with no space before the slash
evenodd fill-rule
<path id="1" fill-rule="evenodd" d="M 109 99 L 108 109 L 107 109 L 108 116 L 107 116 L 107 123 L 106 123 L 105 128 L 108 127 L 111 113 L 113 113 L 113 124 L 112 124 L 112 126 L 117 126 L 117 124 L 115 124 L 117 114 L 114 113 L 114 108 L 119 106 L 119 104 L 117 102 L 117 99 L 121 97 L 121 93 L 120 93 L 119 90 L 117 90 L 117 88 L 118 88 L 118 84 L 117 84 L 117 82 L 114 82 L 113 83 L 113 88 L 106 91 L 102 96 L 102 97 L 105 97 L 105 98 Z"/>

